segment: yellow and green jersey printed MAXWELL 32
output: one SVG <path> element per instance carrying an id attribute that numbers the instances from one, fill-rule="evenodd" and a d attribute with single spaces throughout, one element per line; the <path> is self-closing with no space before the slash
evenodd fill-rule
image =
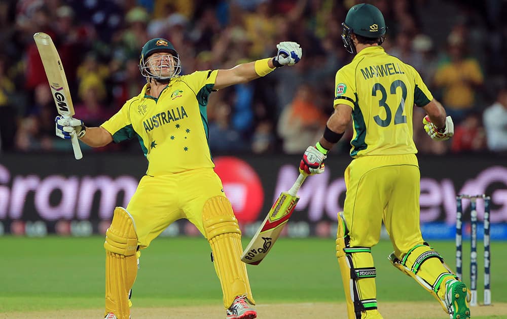
<path id="1" fill-rule="evenodd" d="M 433 96 L 419 73 L 379 46 L 361 50 L 336 72 L 334 106 L 352 107 L 350 156 L 415 154 L 413 105 Z"/>

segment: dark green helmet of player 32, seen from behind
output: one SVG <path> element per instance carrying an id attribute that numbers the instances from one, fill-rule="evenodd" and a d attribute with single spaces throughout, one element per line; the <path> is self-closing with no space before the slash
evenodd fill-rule
<path id="1" fill-rule="evenodd" d="M 352 33 L 379 39 L 378 44 L 381 45 L 384 42 L 387 30 L 382 12 L 377 7 L 369 4 L 359 4 L 350 8 L 342 27 L 343 45 L 349 53 L 355 53 L 355 47 L 350 38 Z"/>

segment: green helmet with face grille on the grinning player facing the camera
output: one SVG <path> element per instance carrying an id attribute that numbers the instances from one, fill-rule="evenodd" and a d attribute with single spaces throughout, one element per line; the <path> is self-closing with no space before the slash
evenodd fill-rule
<path id="1" fill-rule="evenodd" d="M 153 59 L 153 57 L 151 58 L 150 56 L 158 52 L 166 52 L 172 55 L 172 72 L 170 74 L 162 75 L 161 67 L 157 70 L 152 63 L 148 63 L 151 59 Z M 162 66 L 163 61 L 163 59 L 160 61 L 160 66 Z M 178 52 L 174 49 L 174 46 L 166 39 L 156 37 L 142 46 L 139 60 L 139 70 L 141 71 L 141 75 L 148 79 L 154 78 L 158 81 L 167 81 L 168 79 L 178 76 L 182 67 L 179 62 Z"/>

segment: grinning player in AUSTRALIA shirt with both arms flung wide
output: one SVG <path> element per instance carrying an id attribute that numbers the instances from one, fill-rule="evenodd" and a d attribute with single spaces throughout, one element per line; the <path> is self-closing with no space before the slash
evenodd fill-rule
<path id="1" fill-rule="evenodd" d="M 281 42 L 277 48 L 273 58 L 180 76 L 179 56 L 172 44 L 154 38 L 140 54 L 139 69 L 147 84 L 118 113 L 94 128 L 79 119 L 56 118 L 59 137 L 77 134 L 92 147 L 135 137 L 149 162 L 127 208 L 115 209 L 106 231 L 105 318 L 129 319 L 140 250 L 180 218 L 192 222 L 211 246 L 227 318 L 257 317 L 246 266 L 240 261 L 238 222 L 213 171 L 206 105 L 212 91 L 294 65 L 302 57 L 297 43 Z"/>

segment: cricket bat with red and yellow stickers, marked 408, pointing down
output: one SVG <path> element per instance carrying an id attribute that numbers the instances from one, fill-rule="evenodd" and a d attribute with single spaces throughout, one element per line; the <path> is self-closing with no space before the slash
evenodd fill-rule
<path id="1" fill-rule="evenodd" d="M 258 265 L 269 253 L 285 224 L 291 217 L 299 197 L 298 190 L 308 175 L 299 174 L 298 179 L 287 192 L 282 192 L 271 207 L 268 216 L 262 222 L 248 246 L 243 251 L 241 261 Z"/>

